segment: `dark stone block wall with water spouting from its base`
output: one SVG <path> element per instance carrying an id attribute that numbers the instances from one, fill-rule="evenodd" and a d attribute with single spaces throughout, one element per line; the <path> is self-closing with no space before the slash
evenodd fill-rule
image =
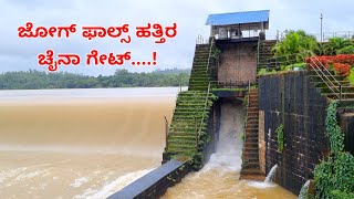
<path id="1" fill-rule="evenodd" d="M 325 137 L 326 107 L 326 98 L 311 85 L 304 71 L 259 77 L 259 109 L 264 112 L 266 171 L 268 174 L 278 164 L 275 182 L 295 195 L 313 178 L 315 165 L 330 150 Z M 275 133 L 281 124 L 284 126 L 283 151 L 278 150 Z"/>

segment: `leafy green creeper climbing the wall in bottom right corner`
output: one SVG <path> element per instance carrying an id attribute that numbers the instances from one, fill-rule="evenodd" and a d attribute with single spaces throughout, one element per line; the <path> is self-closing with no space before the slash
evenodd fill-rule
<path id="1" fill-rule="evenodd" d="M 330 104 L 325 119 L 331 155 L 314 169 L 316 198 L 321 199 L 354 196 L 354 157 L 344 151 L 344 135 L 336 119 L 337 105 L 337 102 Z"/>

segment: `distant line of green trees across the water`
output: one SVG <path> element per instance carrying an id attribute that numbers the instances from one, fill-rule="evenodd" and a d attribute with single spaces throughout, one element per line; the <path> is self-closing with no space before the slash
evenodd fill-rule
<path id="1" fill-rule="evenodd" d="M 189 71 L 171 69 L 152 73 L 131 73 L 127 70 L 117 70 L 114 75 L 97 77 L 35 70 L 7 72 L 0 74 L 0 90 L 187 86 Z"/>

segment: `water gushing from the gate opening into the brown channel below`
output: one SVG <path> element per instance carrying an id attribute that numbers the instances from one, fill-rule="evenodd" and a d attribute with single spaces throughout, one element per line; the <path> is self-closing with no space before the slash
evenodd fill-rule
<path id="1" fill-rule="evenodd" d="M 242 164 L 240 135 L 244 133 L 244 107 L 241 105 L 222 103 L 216 153 L 200 171 L 189 174 L 181 182 L 169 188 L 163 199 L 293 198 L 271 182 L 239 180 Z"/>

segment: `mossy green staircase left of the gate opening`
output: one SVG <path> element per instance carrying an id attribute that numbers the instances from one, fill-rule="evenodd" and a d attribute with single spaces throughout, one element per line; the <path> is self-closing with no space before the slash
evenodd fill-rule
<path id="1" fill-rule="evenodd" d="M 209 113 L 216 100 L 208 90 L 211 48 L 211 44 L 196 45 L 188 91 L 177 96 L 163 164 L 175 157 L 188 156 L 194 159 L 194 169 L 202 166 Z"/>

